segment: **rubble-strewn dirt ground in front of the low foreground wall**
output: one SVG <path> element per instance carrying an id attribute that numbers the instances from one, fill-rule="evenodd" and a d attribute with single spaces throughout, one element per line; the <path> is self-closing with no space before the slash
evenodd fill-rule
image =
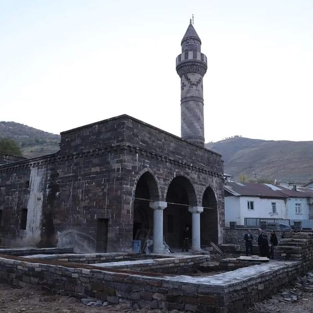
<path id="1" fill-rule="evenodd" d="M 290 289 L 292 291 L 292 288 Z M 0 284 L 0 312 L 17 313 L 177 313 L 172 310 L 148 310 L 129 308 L 127 305 L 87 306 L 79 299 L 53 295 L 36 287 L 13 288 Z M 183 311 L 180 311 L 183 312 Z M 275 299 L 267 299 L 243 310 L 242 313 L 313 313 L 312 292 L 303 292 L 301 297 L 293 303 Z"/>

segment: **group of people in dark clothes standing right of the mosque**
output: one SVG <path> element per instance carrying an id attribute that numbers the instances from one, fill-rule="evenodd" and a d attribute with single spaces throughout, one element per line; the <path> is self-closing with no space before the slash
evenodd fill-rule
<path id="1" fill-rule="evenodd" d="M 250 255 L 253 255 L 253 236 L 251 234 L 250 229 L 247 230 L 244 236 L 245 244 L 246 244 L 246 256 L 248 256 L 248 252 L 250 250 Z M 277 246 L 278 240 L 275 234 L 275 231 L 272 230 L 270 232 L 270 254 L 271 257 L 274 258 L 274 246 Z M 258 246 L 260 248 L 261 256 L 270 257 L 269 254 L 269 244 L 268 244 L 268 236 L 265 231 L 262 231 L 261 228 L 258 229 Z"/>

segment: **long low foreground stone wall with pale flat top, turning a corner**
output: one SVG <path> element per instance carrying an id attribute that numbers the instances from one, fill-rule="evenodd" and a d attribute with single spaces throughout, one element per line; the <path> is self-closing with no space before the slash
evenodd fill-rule
<path id="1" fill-rule="evenodd" d="M 186 267 L 192 268 L 196 260 L 203 262 L 205 257 L 190 256 L 185 257 L 185 261 L 184 258 L 142 260 L 141 265 L 137 263 L 136 266 L 142 270 L 143 265 L 150 267 L 149 264 L 156 262 L 175 270 L 185 262 Z M 160 270 L 152 273 L 155 264 L 149 269 L 150 272 L 136 273 L 136 266 L 125 268 L 125 264 L 122 269 L 118 266 L 110 268 L 110 263 L 105 263 L 106 268 L 100 268 L 100 264 L 96 268 L 96 265 L 69 262 L 67 266 L 62 259 L 58 264 L 43 258 L 39 261 L 39 258 L 7 256 L 0 257 L 0 282 L 20 287 L 29 284 L 45 286 L 59 294 L 92 297 L 112 304 L 136 304 L 139 308 L 239 313 L 295 281 L 299 273 L 311 267 L 313 233 L 286 234 L 275 247 L 275 257 L 283 262 L 270 260 L 268 263 L 211 276 L 189 276 L 160 274 Z M 224 263 L 229 268 L 232 260 L 226 259 Z M 233 264 L 235 267 L 235 262 Z"/>

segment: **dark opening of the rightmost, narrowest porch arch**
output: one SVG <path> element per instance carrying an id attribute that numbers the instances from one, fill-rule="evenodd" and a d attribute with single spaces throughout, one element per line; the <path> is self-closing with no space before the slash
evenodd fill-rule
<path id="1" fill-rule="evenodd" d="M 217 200 L 211 186 L 204 190 L 202 206 L 203 212 L 200 218 L 201 245 L 209 246 L 210 242 L 218 244 Z"/>

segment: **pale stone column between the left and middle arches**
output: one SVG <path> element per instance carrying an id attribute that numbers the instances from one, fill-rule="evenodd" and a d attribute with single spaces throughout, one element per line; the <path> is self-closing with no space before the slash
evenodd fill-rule
<path id="1" fill-rule="evenodd" d="M 153 209 L 153 252 L 163 253 L 163 210 L 167 207 L 167 202 L 150 202 Z"/>

